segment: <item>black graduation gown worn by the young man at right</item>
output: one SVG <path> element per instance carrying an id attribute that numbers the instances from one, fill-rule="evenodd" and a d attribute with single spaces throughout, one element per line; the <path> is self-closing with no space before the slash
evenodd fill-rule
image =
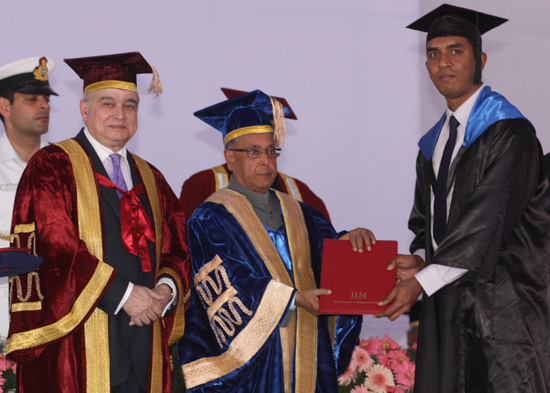
<path id="1" fill-rule="evenodd" d="M 469 272 L 424 296 L 415 392 L 550 392 L 550 189 L 529 123 L 501 120 L 453 163 L 434 253 L 431 161 L 417 159 L 411 252 Z"/>

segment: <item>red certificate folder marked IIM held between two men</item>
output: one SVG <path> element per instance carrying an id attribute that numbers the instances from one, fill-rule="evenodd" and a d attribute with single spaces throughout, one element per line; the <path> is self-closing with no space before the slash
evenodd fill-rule
<path id="1" fill-rule="evenodd" d="M 372 250 L 353 251 L 349 240 L 325 239 L 321 288 L 332 290 L 320 296 L 320 314 L 377 314 L 386 309 L 376 304 L 395 287 L 397 269 L 388 271 L 397 256 L 397 242 L 377 240 Z"/>

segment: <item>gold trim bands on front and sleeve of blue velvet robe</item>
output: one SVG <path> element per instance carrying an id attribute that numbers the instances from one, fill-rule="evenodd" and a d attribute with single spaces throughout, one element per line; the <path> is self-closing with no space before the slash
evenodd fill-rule
<path id="1" fill-rule="evenodd" d="M 274 316 L 283 316 L 294 292 L 293 288 L 295 287 L 298 291 L 316 288 L 311 269 L 309 237 L 300 205 L 290 195 L 281 192 L 276 192 L 276 195 L 280 201 L 283 220 L 286 225 L 296 285 L 293 284 L 275 245 L 254 212 L 252 205 L 243 195 L 229 189 L 223 189 L 208 198 L 209 202 L 223 204 L 239 222 L 264 261 L 273 281 L 266 288 L 254 317 L 233 340 L 224 354 L 218 357 L 199 359 L 183 366 L 185 383 L 189 388 L 217 379 L 244 365 L 265 342 L 265 339 L 261 341 L 261 339 L 258 340 L 258 337 L 266 333 L 265 329 L 268 329 L 270 333 L 278 325 L 280 318 Z M 219 264 L 220 262 L 216 261 L 215 263 Z M 213 270 L 213 267 L 210 270 Z M 199 274 L 205 273 L 199 272 Z M 279 290 L 275 291 L 272 288 L 273 286 L 279 288 Z M 284 297 L 281 298 L 283 294 Z M 272 302 L 275 302 L 278 307 L 273 309 Z M 295 391 L 313 393 L 317 375 L 317 318 L 305 310 L 298 308 L 297 311 L 297 318 L 293 316 L 288 326 L 279 328 L 283 352 L 285 391 L 292 391 L 292 371 L 294 370 L 296 377 Z M 265 325 L 268 321 L 259 323 L 258 319 L 262 318 L 270 319 L 269 323 L 271 325 L 269 326 L 272 327 L 269 328 L 268 325 Z M 296 360 L 293 365 L 295 344 Z M 234 359 L 237 353 L 240 355 L 238 361 Z M 246 356 L 243 358 L 243 355 Z"/>

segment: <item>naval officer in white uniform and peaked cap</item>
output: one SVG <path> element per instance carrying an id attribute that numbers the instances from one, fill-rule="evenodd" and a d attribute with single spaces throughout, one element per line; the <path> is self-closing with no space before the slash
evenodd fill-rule
<path id="1" fill-rule="evenodd" d="M 57 95 L 49 83 L 55 61 L 29 57 L 0 67 L 0 119 L 5 133 L 0 137 L 0 247 L 8 247 L 11 216 L 17 184 L 27 162 L 45 145 L 48 132 L 50 95 Z M 21 245 L 26 247 L 26 245 Z M 0 336 L 9 328 L 8 277 L 0 277 Z"/>

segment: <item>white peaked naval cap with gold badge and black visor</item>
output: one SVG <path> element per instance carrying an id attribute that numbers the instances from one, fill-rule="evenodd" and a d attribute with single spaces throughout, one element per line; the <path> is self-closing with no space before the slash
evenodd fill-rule
<path id="1" fill-rule="evenodd" d="M 49 74 L 55 60 L 46 56 L 27 57 L 0 67 L 0 95 L 10 92 L 58 95 L 50 87 Z"/>

